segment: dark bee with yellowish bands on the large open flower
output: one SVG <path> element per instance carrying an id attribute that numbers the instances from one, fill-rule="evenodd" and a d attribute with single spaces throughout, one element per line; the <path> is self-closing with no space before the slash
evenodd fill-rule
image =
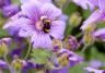
<path id="1" fill-rule="evenodd" d="M 47 19 L 47 17 L 43 17 L 42 22 L 43 22 L 43 25 L 44 25 L 43 26 L 44 33 L 49 33 L 50 32 L 50 24 L 51 24 L 50 20 Z"/>

